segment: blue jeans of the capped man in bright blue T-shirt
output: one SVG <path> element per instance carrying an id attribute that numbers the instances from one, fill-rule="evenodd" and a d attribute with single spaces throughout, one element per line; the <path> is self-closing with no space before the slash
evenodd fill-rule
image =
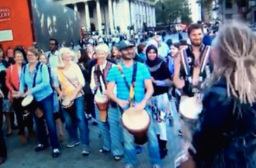
<path id="1" fill-rule="evenodd" d="M 146 108 L 147 109 L 147 108 Z M 149 110 L 147 110 L 149 111 Z M 150 115 L 150 114 L 149 114 Z M 152 115 L 150 115 L 150 120 L 153 121 Z M 150 157 L 150 163 L 152 165 L 159 165 L 161 166 L 161 158 L 159 153 L 159 146 L 157 141 L 157 134 L 154 129 L 154 125 L 151 122 L 150 126 L 147 131 L 147 148 Z M 133 166 L 137 165 L 137 155 L 136 155 L 136 145 L 134 143 L 134 136 L 130 134 L 123 127 L 123 141 L 124 141 L 124 161 L 126 164 L 130 164 Z"/>

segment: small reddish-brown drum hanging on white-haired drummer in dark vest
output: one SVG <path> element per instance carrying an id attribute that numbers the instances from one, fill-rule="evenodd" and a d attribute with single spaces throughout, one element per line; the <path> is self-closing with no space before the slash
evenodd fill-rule
<path id="1" fill-rule="evenodd" d="M 96 94 L 94 100 L 97 108 L 99 109 L 99 120 L 101 122 L 106 122 L 109 110 L 109 98 L 103 94 Z"/>

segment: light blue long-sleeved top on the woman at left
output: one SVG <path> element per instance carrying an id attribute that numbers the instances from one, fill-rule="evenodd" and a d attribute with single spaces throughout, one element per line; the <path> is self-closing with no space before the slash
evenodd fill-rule
<path id="1" fill-rule="evenodd" d="M 42 66 L 42 67 L 41 67 Z M 24 72 L 25 70 L 25 74 Z M 23 93 L 25 90 L 25 84 L 28 90 L 33 94 L 36 101 L 42 101 L 53 93 L 52 87 L 50 87 L 50 76 L 46 65 L 41 64 L 36 74 L 36 86 L 33 87 L 33 79 L 36 74 L 36 67 L 33 72 L 29 72 L 29 63 L 22 68 L 22 74 L 20 77 L 19 92 Z"/>

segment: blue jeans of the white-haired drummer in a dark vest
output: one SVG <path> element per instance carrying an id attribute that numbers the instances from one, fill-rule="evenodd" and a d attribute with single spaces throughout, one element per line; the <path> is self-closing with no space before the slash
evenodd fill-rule
<path id="1" fill-rule="evenodd" d="M 99 123 L 99 132 L 101 134 L 102 148 L 112 151 L 113 156 L 123 156 L 123 135 L 120 125 L 120 112 L 117 108 L 109 105 L 108 122 L 99 120 L 99 110 L 96 108 L 96 118 Z"/>

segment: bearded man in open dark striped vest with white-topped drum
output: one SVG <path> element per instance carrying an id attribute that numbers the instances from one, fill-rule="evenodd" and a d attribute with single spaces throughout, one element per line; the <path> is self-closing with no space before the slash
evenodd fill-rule
<path id="1" fill-rule="evenodd" d="M 188 49 L 181 50 L 178 57 L 175 58 L 173 81 L 182 92 L 179 111 L 182 122 L 185 122 L 188 127 L 183 127 L 182 131 L 187 130 L 184 133 L 190 137 L 202 111 L 199 90 L 202 81 L 209 77 L 212 67 L 209 60 L 211 48 L 202 44 L 202 26 L 199 24 L 190 25 L 188 34 L 192 45 Z"/>

